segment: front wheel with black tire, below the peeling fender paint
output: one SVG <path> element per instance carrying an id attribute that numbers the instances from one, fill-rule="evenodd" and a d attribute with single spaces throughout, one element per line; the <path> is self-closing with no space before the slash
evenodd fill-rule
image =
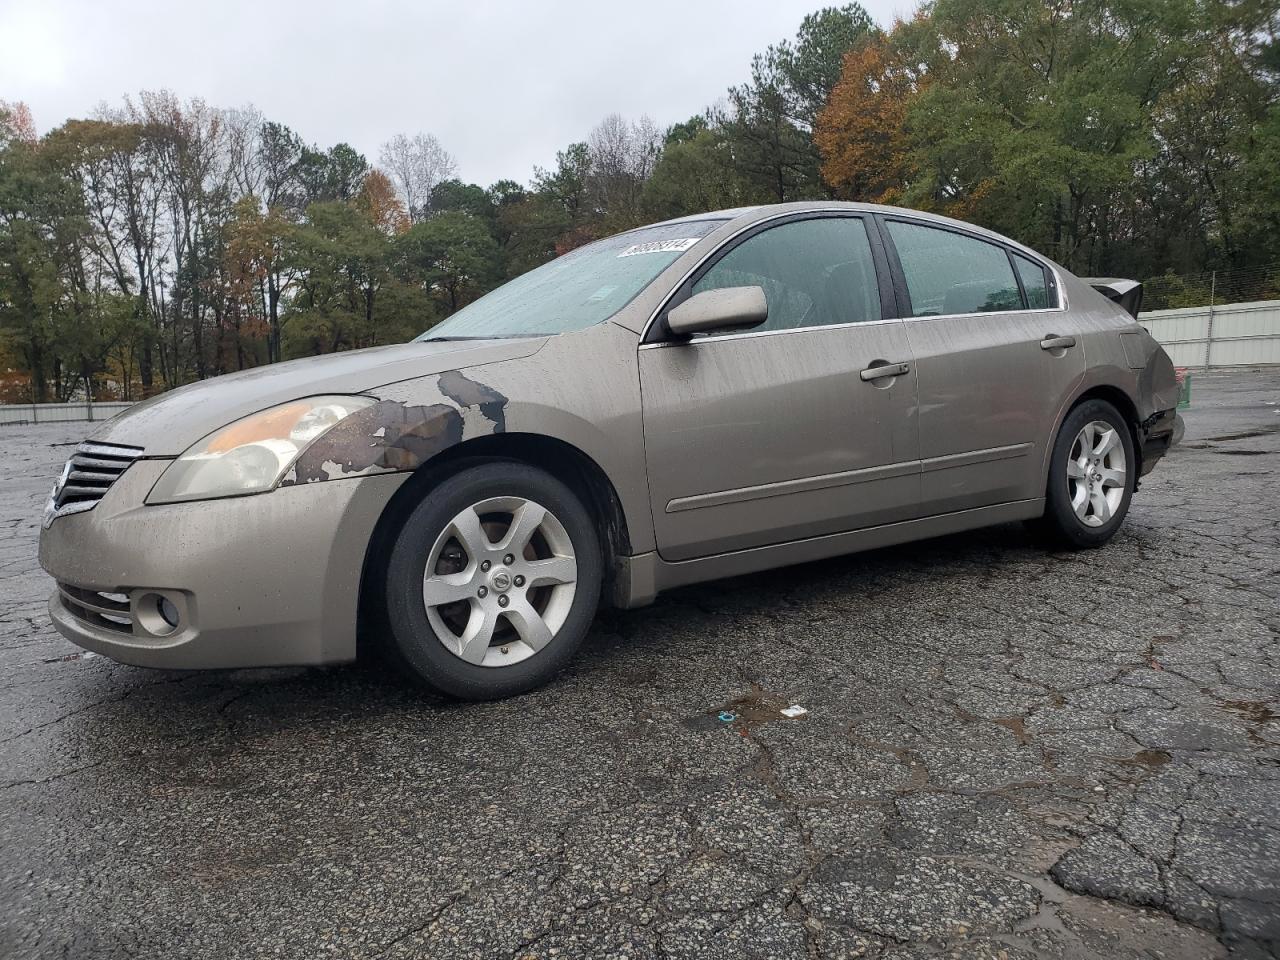
<path id="1" fill-rule="evenodd" d="M 603 572 L 595 524 L 568 486 L 526 463 L 466 467 L 433 486 L 394 538 L 392 653 L 462 700 L 532 690 L 582 643 Z"/>

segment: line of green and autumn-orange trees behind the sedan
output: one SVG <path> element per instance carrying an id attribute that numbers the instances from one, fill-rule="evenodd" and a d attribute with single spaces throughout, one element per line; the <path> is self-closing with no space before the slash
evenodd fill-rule
<path id="1" fill-rule="evenodd" d="M 1276 32 L 1275 0 L 824 8 L 696 116 L 607 116 L 488 187 L 426 133 L 370 160 L 152 91 L 40 137 L 0 101 L 0 399 L 404 340 L 598 237 L 788 200 L 948 214 L 1082 274 L 1274 280 Z"/>

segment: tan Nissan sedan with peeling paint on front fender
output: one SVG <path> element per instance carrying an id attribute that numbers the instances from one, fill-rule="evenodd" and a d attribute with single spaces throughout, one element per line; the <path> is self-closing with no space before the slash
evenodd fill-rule
<path id="1" fill-rule="evenodd" d="M 45 511 L 54 625 L 146 667 L 545 682 L 598 605 L 1029 521 L 1124 522 L 1180 436 L 1140 285 L 989 230 L 785 204 L 575 250 L 416 340 L 140 403 Z"/>

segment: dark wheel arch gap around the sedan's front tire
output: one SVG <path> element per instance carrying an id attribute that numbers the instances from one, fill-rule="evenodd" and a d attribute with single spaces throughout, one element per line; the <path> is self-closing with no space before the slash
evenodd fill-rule
<path id="1" fill-rule="evenodd" d="M 376 596 L 383 584 L 381 558 L 390 552 L 392 541 L 408 513 L 421 503 L 442 480 L 475 463 L 512 461 L 545 470 L 581 498 L 596 521 L 604 553 L 604 596 L 612 590 L 618 557 L 631 552 L 631 534 L 618 492 L 608 474 L 585 452 L 556 436 L 534 433 L 499 433 L 476 436 L 454 444 L 428 460 L 410 474 L 383 508 L 369 538 L 361 564 L 358 621 L 362 630 L 380 618 Z"/>

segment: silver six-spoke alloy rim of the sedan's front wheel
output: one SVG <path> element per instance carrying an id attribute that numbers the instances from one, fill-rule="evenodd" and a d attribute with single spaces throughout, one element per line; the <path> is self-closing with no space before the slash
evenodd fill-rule
<path id="1" fill-rule="evenodd" d="M 568 617 L 577 558 L 564 525 L 522 497 L 474 503 L 431 545 L 422 600 L 436 637 L 481 667 L 507 667 L 552 641 Z"/>

